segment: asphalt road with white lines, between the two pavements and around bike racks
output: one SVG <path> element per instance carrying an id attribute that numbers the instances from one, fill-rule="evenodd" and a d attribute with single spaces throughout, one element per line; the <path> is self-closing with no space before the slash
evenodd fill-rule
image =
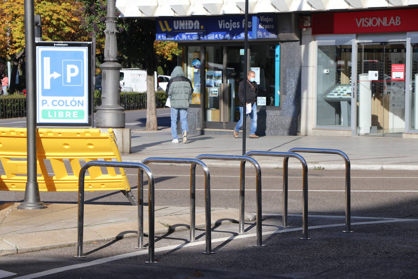
<path id="1" fill-rule="evenodd" d="M 189 167 L 150 166 L 156 177 L 156 205 L 188 205 Z M 238 207 L 238 167 L 210 168 L 212 207 Z M 136 238 L 3 256 L 0 269 L 18 278 L 416 278 L 418 189 L 416 172 L 352 171 L 353 233 L 344 230 L 344 171 L 310 170 L 309 236 L 300 240 L 301 171 L 289 177 L 289 224 L 281 225 L 281 169 L 263 169 L 263 244 L 253 247 L 255 224 L 212 229 L 213 255 L 200 242 L 187 244 L 188 231 L 156 236 L 157 264 L 145 264 L 147 251 L 135 249 Z M 136 172 L 127 171 L 136 185 Z M 197 206 L 203 206 L 203 173 L 196 178 Z M 255 177 L 246 171 L 246 211 L 255 212 Z M 133 192 L 136 195 L 136 187 Z M 87 192 L 86 203 L 128 204 L 119 192 Z M 145 191 L 145 195 L 147 192 Z M 44 202 L 76 202 L 76 193 L 41 193 Z M 23 192 L 2 192 L 0 202 L 20 201 Z M 196 231 L 204 240 L 204 230 Z M 233 239 L 232 239 L 233 238 Z M 145 239 L 145 242 L 147 240 Z M 204 243 L 204 241 L 203 241 Z M 159 250 L 160 249 L 160 250 Z M 109 258 L 112 257 L 112 258 Z M 84 265 L 76 265 L 83 263 Z M 76 266 L 74 266 L 76 265 Z M 51 270 L 54 269 L 54 270 Z M 43 274 L 36 272 L 47 271 Z M 1 274 L 1 273 L 0 273 Z"/>

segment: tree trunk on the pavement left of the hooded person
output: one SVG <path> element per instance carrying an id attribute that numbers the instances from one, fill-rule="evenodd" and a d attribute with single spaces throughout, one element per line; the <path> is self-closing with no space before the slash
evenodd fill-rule
<path id="1" fill-rule="evenodd" d="M 152 41 L 152 40 L 150 40 Z M 156 131 L 157 125 L 157 110 L 155 109 L 155 78 L 154 78 L 154 44 L 150 44 L 150 51 L 147 55 L 147 123 L 145 130 Z"/>

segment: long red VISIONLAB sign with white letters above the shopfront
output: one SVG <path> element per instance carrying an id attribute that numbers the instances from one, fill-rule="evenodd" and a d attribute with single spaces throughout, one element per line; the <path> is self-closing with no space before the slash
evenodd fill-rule
<path id="1" fill-rule="evenodd" d="M 334 34 L 418 31 L 418 9 L 334 13 Z"/>

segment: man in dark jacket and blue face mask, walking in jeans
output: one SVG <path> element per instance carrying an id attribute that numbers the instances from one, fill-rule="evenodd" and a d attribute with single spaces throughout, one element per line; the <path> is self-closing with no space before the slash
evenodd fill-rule
<path id="1" fill-rule="evenodd" d="M 242 110 L 242 104 L 244 103 L 244 86 L 247 86 L 247 101 L 245 102 L 244 110 L 247 104 L 251 105 L 251 112 L 245 114 L 245 119 L 247 119 L 247 115 L 250 115 L 251 118 L 251 126 L 250 126 L 250 138 L 258 138 L 258 136 L 255 134 L 255 131 L 257 130 L 257 93 L 258 93 L 258 87 L 257 82 L 255 80 L 255 72 L 249 71 L 247 74 L 247 79 L 240 82 L 240 88 L 238 90 L 238 96 L 240 97 L 240 120 L 238 121 L 237 125 L 234 129 L 234 137 L 238 138 L 238 132 L 242 128 L 242 123 L 244 123 L 244 117 L 243 117 L 243 110 Z M 245 135 L 244 135 L 245 136 Z"/>

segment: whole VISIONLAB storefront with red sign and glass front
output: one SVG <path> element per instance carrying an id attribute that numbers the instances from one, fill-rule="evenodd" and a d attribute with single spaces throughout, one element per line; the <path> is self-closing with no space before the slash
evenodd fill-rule
<path id="1" fill-rule="evenodd" d="M 310 15 L 301 36 L 302 135 L 418 138 L 417 15 L 418 8 Z"/>

